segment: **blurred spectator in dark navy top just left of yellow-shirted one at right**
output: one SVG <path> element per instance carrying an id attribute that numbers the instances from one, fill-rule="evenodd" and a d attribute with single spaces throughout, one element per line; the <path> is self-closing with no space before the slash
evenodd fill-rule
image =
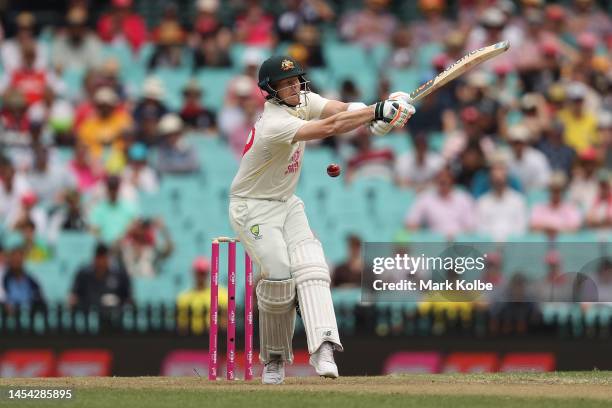
<path id="1" fill-rule="evenodd" d="M 544 128 L 543 137 L 536 146 L 546 156 L 552 170 L 562 171 L 570 177 L 576 160 L 576 151 L 565 143 L 563 133 L 563 123 L 555 119 Z"/>

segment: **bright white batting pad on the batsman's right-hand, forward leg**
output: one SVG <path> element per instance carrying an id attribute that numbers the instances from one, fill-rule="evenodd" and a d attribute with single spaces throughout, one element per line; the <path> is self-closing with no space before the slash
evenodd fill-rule
<path id="1" fill-rule="evenodd" d="M 329 289 L 331 279 L 321 243 L 315 239 L 304 241 L 296 246 L 290 258 L 306 329 L 308 352 L 314 353 L 326 341 L 334 343 L 336 349 L 342 351 Z"/>

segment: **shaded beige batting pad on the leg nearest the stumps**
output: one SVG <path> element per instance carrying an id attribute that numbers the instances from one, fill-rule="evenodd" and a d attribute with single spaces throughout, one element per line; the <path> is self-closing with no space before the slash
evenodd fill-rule
<path id="1" fill-rule="evenodd" d="M 295 327 L 295 281 L 261 280 L 257 284 L 259 308 L 259 359 L 265 364 L 272 356 L 293 362 L 293 329 Z"/>

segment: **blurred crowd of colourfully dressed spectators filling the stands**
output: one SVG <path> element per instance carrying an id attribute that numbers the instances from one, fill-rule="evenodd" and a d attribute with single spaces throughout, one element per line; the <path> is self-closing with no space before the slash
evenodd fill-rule
<path id="1" fill-rule="evenodd" d="M 325 52 L 332 43 L 368 56 L 384 51 L 374 100 L 410 91 L 392 89 L 391 73 L 418 72 L 427 80 L 470 50 L 511 43 L 507 53 L 426 98 L 407 129 L 386 136 L 408 138 L 407 151 L 381 147 L 365 129 L 312 147 L 333 149 L 345 161 L 346 183 L 382 178 L 414 190 L 407 230 L 500 242 L 528 233 L 554 240 L 610 232 L 612 19 L 605 2 L 419 0 L 406 13 L 408 2 L 389 0 L 193 0 L 188 18 L 167 2 L 155 22 L 140 3 L 111 0 L 94 10 L 92 2 L 70 0 L 52 24 L 35 11 L 5 10 L 0 303 L 44 302 L 44 288 L 25 265 L 52 258 L 64 231 L 99 241 L 68 301 L 129 303 L 130 280 L 156 276 L 173 252 L 163 217 L 144 217 L 139 200 L 155 194 L 166 176 L 200 171 L 186 134 L 220 137 L 238 159 L 264 103 L 259 64 L 286 52 L 307 70 L 333 72 Z M 105 54 L 118 46 L 144 70 L 142 83 L 126 80 L 131 67 Z M 196 79 L 207 69 L 236 73 L 219 108 L 204 103 L 208 90 Z M 193 76 L 180 106 L 166 103 L 171 85 L 157 75 L 162 70 Z M 76 94 L 69 72 L 82 73 Z M 314 78 L 311 85 L 330 98 L 373 102 L 363 100 L 369 94 L 355 78 L 337 80 L 338 89 Z M 350 238 L 336 286 L 359 284 L 360 245 Z M 203 302 L 208 266 L 196 259 L 194 289 L 180 304 Z"/>

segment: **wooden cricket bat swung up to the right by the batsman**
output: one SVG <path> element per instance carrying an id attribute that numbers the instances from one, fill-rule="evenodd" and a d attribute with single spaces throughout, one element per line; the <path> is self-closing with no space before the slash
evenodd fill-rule
<path id="1" fill-rule="evenodd" d="M 448 84 L 459 75 L 463 75 L 476 65 L 482 64 L 483 62 L 508 51 L 508 48 L 510 48 L 510 43 L 508 41 L 502 41 L 498 42 L 497 44 L 471 51 L 469 54 L 466 54 L 461 59 L 455 61 L 448 68 L 439 73 L 435 78 L 430 79 L 423 85 L 419 86 L 416 90 L 412 91 L 409 94 L 410 101 L 416 102 L 423 99 L 430 93 Z"/>

